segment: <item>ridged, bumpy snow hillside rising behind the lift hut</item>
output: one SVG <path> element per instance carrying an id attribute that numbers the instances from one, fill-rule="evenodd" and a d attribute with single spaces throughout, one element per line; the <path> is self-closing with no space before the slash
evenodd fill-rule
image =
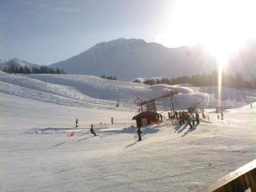
<path id="1" fill-rule="evenodd" d="M 217 106 L 217 87 L 185 87 L 111 81 L 91 75 L 29 74 L 14 75 L 0 72 L 0 91 L 20 97 L 33 98 L 68 106 L 134 109 L 135 98 L 150 99 L 166 94 L 166 89 L 179 91 L 174 96 L 176 109 L 186 109 L 194 103 L 206 108 Z M 244 106 L 254 102 L 256 92 L 225 87 L 222 94 L 224 108 Z M 170 101 L 158 101 L 160 110 L 170 110 Z"/>

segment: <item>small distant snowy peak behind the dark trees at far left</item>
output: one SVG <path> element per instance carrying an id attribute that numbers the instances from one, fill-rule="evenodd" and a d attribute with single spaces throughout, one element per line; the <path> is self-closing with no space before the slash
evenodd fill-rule
<path id="1" fill-rule="evenodd" d="M 40 67 L 38 64 L 34 64 L 31 62 L 26 62 L 22 59 L 19 58 L 12 58 L 8 61 L 3 61 L 0 59 L 0 70 L 3 70 L 5 67 L 9 68 L 11 65 L 14 65 L 15 67 L 20 67 L 20 66 L 27 66 L 30 69 L 32 69 L 32 67 Z"/>

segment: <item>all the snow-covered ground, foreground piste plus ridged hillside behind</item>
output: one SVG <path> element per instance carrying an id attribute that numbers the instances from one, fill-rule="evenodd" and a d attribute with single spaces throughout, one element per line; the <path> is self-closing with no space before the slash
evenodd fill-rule
<path id="1" fill-rule="evenodd" d="M 253 90 L 225 88 L 226 107 L 240 107 L 225 110 L 224 121 L 207 109 L 210 121 L 192 130 L 164 121 L 144 127 L 136 142 L 134 98 L 159 96 L 166 87 L 0 73 L 0 191 L 196 191 L 256 158 Z M 216 104 L 214 87 L 173 87 L 181 108 L 195 98 Z M 253 101 L 254 109 L 242 106 Z"/>

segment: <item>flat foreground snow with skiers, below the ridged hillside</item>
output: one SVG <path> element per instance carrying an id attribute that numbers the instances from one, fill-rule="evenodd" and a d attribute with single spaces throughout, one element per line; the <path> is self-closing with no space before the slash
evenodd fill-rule
<path id="1" fill-rule="evenodd" d="M 196 191 L 256 158 L 250 106 L 226 111 L 224 121 L 209 111 L 210 122 L 193 130 L 170 122 L 149 126 L 136 142 L 135 112 L 67 108 L 3 93 L 0 103 L 4 192 Z M 99 122 L 92 138 L 90 123 Z"/>

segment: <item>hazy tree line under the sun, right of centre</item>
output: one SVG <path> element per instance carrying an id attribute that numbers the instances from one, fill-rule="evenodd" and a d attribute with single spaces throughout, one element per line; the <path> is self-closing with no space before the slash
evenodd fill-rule
<path id="1" fill-rule="evenodd" d="M 139 82 L 139 80 L 136 79 L 134 82 Z M 143 83 L 150 86 L 155 84 L 177 85 L 182 83 L 189 83 L 193 86 L 218 86 L 218 72 L 215 71 L 211 74 L 197 74 L 171 79 L 147 79 Z M 240 72 L 234 75 L 222 73 L 222 86 L 229 86 L 236 89 L 256 89 L 256 78 L 246 80 Z"/>

